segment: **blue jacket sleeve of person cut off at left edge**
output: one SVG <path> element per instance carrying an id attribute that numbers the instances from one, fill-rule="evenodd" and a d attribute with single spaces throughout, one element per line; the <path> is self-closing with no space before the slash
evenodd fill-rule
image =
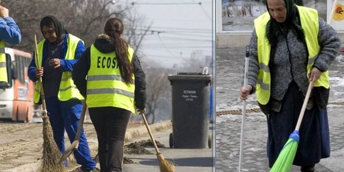
<path id="1" fill-rule="evenodd" d="M 21 31 L 12 17 L 0 17 L 0 40 L 12 45 L 21 43 Z"/>

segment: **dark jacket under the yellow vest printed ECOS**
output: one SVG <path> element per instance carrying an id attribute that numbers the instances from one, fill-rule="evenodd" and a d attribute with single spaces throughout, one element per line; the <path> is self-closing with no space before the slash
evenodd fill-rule
<path id="1" fill-rule="evenodd" d="M 94 47 L 103 53 L 114 52 L 114 46 L 109 44 L 109 40 L 106 36 L 98 36 L 94 43 Z M 86 95 L 87 80 L 85 80 L 85 78 L 91 63 L 90 49 L 90 47 L 87 47 L 85 52 L 83 52 L 78 62 L 74 65 L 72 72 L 74 84 L 82 95 Z M 144 109 L 146 103 L 146 74 L 144 74 L 140 61 L 136 55 L 133 55 L 131 63 L 133 64 L 135 76 L 135 105 L 138 109 Z"/>

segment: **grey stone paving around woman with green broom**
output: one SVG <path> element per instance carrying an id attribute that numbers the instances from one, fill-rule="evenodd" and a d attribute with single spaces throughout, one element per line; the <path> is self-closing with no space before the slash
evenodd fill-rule
<path id="1" fill-rule="evenodd" d="M 216 51 L 216 111 L 242 109 L 239 88 L 243 80 L 245 47 L 217 49 Z M 330 67 L 330 125 L 331 156 L 316 164 L 316 171 L 344 171 L 344 58 L 338 56 Z M 259 108 L 255 95 L 247 100 L 247 109 Z M 337 103 L 337 105 L 335 105 Z M 263 113 L 246 114 L 243 171 L 269 171 L 266 157 L 266 116 Z M 216 171 L 236 172 L 239 165 L 241 115 L 216 117 Z M 299 166 L 293 166 L 297 172 Z"/>

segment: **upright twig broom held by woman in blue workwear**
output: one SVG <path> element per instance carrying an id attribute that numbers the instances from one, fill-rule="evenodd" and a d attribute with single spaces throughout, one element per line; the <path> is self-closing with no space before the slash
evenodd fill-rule
<path id="1" fill-rule="evenodd" d="M 41 68 L 39 61 L 39 51 L 37 47 L 36 34 L 34 35 L 34 42 L 36 44 L 36 67 Z M 39 77 L 39 86 L 41 87 L 41 99 L 42 99 L 42 119 L 43 119 L 43 157 L 39 171 L 42 172 L 63 172 L 67 171 L 62 163 L 58 163 L 61 156 L 61 151 L 58 149 L 57 144 L 54 140 L 54 133 L 52 131 L 52 125 L 50 124 L 49 116 L 47 116 L 47 107 L 45 106 L 45 95 L 43 90 L 43 80 Z"/>

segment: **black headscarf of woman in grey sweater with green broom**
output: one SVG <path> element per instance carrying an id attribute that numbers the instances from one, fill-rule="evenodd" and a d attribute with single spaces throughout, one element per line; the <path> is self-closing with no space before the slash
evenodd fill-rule
<path id="1" fill-rule="evenodd" d="M 301 22 L 299 20 L 299 12 L 297 10 L 297 6 L 294 3 L 294 0 L 283 0 L 286 4 L 287 9 L 287 17 L 286 21 L 283 23 L 277 22 L 271 16 L 270 12 L 270 21 L 268 21 L 266 25 L 266 38 L 268 39 L 271 46 L 277 44 L 277 34 L 279 30 L 281 30 L 281 25 L 286 25 L 289 28 L 294 28 L 297 31 L 297 38 L 301 41 L 305 41 L 305 34 L 303 29 L 301 28 Z M 268 3 L 266 2 L 266 8 L 268 8 Z"/>

